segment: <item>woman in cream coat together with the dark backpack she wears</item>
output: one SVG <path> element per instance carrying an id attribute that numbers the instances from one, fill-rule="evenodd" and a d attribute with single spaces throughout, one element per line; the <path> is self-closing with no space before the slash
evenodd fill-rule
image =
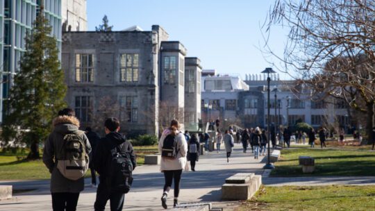
<path id="1" fill-rule="evenodd" d="M 186 153 L 188 144 L 183 133 L 179 130 L 180 124 L 172 120 L 169 128 L 163 131 L 159 140 L 159 152 L 162 155 L 160 171 L 163 172 L 165 185 L 161 197 L 163 208 L 167 209 L 167 196 L 174 180 L 174 201 L 173 206 L 178 205 L 178 194 L 180 193 L 180 180 L 182 170 L 186 166 Z"/>

